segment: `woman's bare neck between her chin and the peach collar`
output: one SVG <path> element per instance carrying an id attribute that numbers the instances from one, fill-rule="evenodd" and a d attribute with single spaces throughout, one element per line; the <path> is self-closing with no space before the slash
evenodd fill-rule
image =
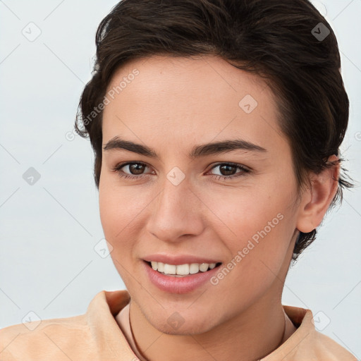
<path id="1" fill-rule="evenodd" d="M 169 335 L 149 324 L 130 301 L 130 324 L 141 360 L 259 360 L 295 331 L 289 319 L 285 326 L 285 317 L 281 298 L 264 297 L 203 334 Z"/>

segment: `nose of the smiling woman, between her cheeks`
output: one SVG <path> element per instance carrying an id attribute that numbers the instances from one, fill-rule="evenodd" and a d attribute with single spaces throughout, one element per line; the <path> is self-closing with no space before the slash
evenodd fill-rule
<path id="1" fill-rule="evenodd" d="M 149 209 L 147 231 L 159 240 L 173 243 L 185 235 L 199 235 L 204 229 L 204 208 L 187 178 L 178 185 L 165 179 L 163 189 Z"/>

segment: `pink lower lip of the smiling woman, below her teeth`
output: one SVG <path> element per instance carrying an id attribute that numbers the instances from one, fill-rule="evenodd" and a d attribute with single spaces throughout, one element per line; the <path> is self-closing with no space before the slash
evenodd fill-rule
<path id="1" fill-rule="evenodd" d="M 219 271 L 219 267 L 214 267 L 214 269 L 209 269 L 209 271 L 206 272 L 190 274 L 189 276 L 183 277 L 173 277 L 154 271 L 147 262 L 143 261 L 143 264 L 149 280 L 154 284 L 154 286 L 157 286 L 160 290 L 178 294 L 192 292 L 209 281 L 209 279 Z"/>

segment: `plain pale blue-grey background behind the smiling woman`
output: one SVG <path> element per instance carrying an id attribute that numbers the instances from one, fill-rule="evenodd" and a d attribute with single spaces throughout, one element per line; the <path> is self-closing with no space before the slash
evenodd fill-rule
<path id="1" fill-rule="evenodd" d="M 117 1 L 0 1 L 0 328 L 29 311 L 42 319 L 86 311 L 101 290 L 124 288 L 103 238 L 90 142 L 69 141 L 90 80 L 94 34 Z M 338 37 L 350 97 L 342 147 L 361 180 L 361 0 L 313 1 Z M 35 25 L 27 25 L 33 22 Z M 22 30 L 37 27 L 30 42 Z M 29 35 L 30 36 L 30 35 Z M 28 185 L 34 167 L 41 178 Z M 310 308 L 323 333 L 361 357 L 361 191 L 345 191 L 317 240 L 290 269 L 283 304 Z M 322 318 L 323 317 L 323 318 Z"/>

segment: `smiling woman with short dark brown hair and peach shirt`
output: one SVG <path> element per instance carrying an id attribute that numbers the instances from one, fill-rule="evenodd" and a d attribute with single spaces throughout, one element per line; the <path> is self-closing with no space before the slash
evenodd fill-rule
<path id="1" fill-rule="evenodd" d="M 115 6 L 75 126 L 127 290 L 1 330 L 1 360 L 356 360 L 281 304 L 290 262 L 352 187 L 340 66 L 307 0 Z"/>

